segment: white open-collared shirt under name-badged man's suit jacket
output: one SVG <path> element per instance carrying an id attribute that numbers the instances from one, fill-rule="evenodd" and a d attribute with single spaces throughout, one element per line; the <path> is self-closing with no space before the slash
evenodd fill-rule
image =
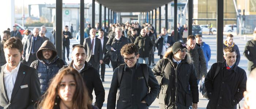
<path id="1" fill-rule="evenodd" d="M 7 70 L 7 64 L 4 67 L 4 88 L 7 92 L 7 96 L 9 101 L 11 100 L 12 96 L 12 89 L 14 88 L 14 84 L 18 75 L 20 62 L 17 65 L 15 69 L 13 69 L 11 72 Z"/>

